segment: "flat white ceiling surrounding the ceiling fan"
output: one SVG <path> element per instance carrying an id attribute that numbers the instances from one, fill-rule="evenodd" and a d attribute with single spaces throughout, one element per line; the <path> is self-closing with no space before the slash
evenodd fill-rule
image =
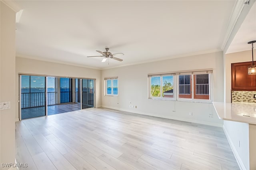
<path id="1" fill-rule="evenodd" d="M 17 56 L 98 69 L 221 51 L 235 5 L 234 0 L 15 3 L 23 9 Z M 110 59 L 108 65 L 102 57 L 86 57 L 105 47 L 124 53 L 124 61 Z"/>

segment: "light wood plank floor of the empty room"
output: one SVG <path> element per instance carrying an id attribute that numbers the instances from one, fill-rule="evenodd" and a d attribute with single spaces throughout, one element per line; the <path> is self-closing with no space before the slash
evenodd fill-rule
<path id="1" fill-rule="evenodd" d="M 16 160 L 31 170 L 239 169 L 222 128 L 98 108 L 16 122 Z"/>

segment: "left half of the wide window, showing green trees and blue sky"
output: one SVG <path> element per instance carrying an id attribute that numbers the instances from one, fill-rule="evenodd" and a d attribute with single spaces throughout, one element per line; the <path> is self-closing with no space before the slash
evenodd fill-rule
<path id="1" fill-rule="evenodd" d="M 150 77 L 150 98 L 174 98 L 174 76 Z"/>

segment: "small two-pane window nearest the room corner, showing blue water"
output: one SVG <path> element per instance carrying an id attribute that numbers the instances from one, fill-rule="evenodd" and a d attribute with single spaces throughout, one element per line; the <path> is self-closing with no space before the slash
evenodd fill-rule
<path id="1" fill-rule="evenodd" d="M 105 95 L 118 95 L 118 77 L 105 78 Z"/>

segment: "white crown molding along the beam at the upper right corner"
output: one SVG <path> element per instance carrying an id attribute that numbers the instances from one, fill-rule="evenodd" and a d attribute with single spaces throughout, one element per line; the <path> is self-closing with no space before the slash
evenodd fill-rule
<path id="1" fill-rule="evenodd" d="M 229 45 L 234 39 L 234 36 L 238 32 L 240 26 L 255 2 L 255 0 L 250 0 L 250 4 L 246 4 L 247 1 L 248 0 L 236 0 L 235 2 L 221 46 L 224 53 L 226 53 Z"/>

